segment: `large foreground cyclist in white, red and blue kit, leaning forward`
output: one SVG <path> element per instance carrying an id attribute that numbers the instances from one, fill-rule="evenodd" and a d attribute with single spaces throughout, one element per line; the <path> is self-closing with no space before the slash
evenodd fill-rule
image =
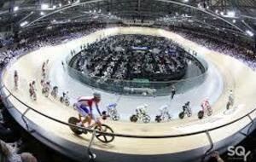
<path id="1" fill-rule="evenodd" d="M 101 94 L 94 93 L 93 96 L 81 96 L 74 104 L 75 108 L 79 112 L 79 126 L 84 126 L 88 123 L 90 126 L 91 119 L 95 120 L 95 116 L 92 113 L 93 105 L 95 105 L 97 112 L 102 116 L 102 113 L 98 107 L 98 103 L 101 101 Z M 82 119 L 84 118 L 84 119 Z"/>

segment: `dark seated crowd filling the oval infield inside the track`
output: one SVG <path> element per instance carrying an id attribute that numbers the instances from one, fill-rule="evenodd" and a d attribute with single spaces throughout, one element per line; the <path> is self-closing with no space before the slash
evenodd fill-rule
<path id="1" fill-rule="evenodd" d="M 117 35 L 88 44 L 76 56 L 79 71 L 90 77 L 132 80 L 182 78 L 187 63 L 171 40 L 145 35 Z"/>

